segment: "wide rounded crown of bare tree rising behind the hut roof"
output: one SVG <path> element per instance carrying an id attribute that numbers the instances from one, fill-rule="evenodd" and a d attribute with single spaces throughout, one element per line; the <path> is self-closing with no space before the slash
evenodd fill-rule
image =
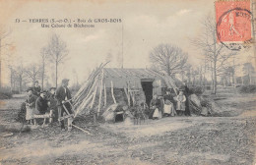
<path id="1" fill-rule="evenodd" d="M 171 44 L 160 44 L 150 53 L 153 69 L 168 76 L 181 73 L 187 63 L 187 53 Z"/>

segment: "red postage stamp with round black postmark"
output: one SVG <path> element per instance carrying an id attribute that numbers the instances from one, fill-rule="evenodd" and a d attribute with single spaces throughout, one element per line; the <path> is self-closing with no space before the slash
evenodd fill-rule
<path id="1" fill-rule="evenodd" d="M 218 42 L 231 50 L 248 46 L 252 38 L 250 1 L 217 1 Z"/>

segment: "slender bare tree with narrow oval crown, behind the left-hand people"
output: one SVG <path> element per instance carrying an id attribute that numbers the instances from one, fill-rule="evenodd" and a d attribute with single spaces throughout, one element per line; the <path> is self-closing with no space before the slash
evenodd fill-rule
<path id="1" fill-rule="evenodd" d="M 58 66 L 63 63 L 68 56 L 68 49 L 66 43 L 61 40 L 60 36 L 53 34 L 47 46 L 50 56 L 50 62 L 55 65 L 55 79 L 56 87 L 58 85 Z"/>

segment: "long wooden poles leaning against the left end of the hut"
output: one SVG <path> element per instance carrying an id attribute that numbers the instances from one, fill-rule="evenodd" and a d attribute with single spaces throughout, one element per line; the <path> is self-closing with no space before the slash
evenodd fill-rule
<path id="1" fill-rule="evenodd" d="M 75 109 L 75 117 L 80 113 L 89 114 L 94 108 L 97 90 L 99 90 L 99 97 L 101 97 L 102 80 L 103 80 L 103 67 L 106 65 L 100 64 L 97 67 L 86 83 L 84 83 L 78 92 L 73 97 L 73 104 Z M 97 95 L 98 97 L 98 95 Z M 100 99 L 100 98 L 99 98 Z M 98 102 L 100 104 L 100 101 Z M 100 107 L 100 105 L 98 105 Z"/>

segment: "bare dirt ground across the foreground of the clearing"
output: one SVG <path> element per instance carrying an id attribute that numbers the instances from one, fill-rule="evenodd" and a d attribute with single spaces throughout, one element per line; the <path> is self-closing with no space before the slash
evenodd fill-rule
<path id="1" fill-rule="evenodd" d="M 223 95 L 220 97 L 224 97 Z M 217 102 L 225 117 L 168 117 L 141 125 L 57 124 L 0 134 L 0 164 L 255 164 L 256 97 L 230 94 Z M 23 97 L 0 100 L 0 124 L 13 124 Z"/>

